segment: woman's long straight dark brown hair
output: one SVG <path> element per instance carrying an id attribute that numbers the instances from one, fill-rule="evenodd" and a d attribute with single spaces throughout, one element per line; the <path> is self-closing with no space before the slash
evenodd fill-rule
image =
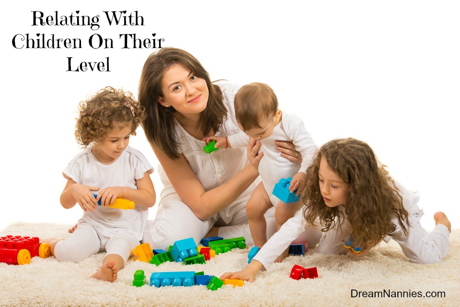
<path id="1" fill-rule="evenodd" d="M 178 141 L 174 132 L 174 115 L 177 111 L 173 107 L 162 106 L 158 98 L 163 97 L 164 71 L 174 64 L 184 65 L 198 78 L 206 81 L 209 90 L 208 104 L 206 109 L 200 113 L 197 123 L 197 129 L 203 135 L 207 135 L 211 129 L 217 131 L 224 116 L 227 115 L 220 87 L 212 84 L 208 72 L 193 55 L 172 47 L 162 48 L 150 54 L 139 81 L 139 102 L 145 107 L 147 113 L 141 125 L 150 145 L 159 148 L 170 159 L 179 158 Z"/>

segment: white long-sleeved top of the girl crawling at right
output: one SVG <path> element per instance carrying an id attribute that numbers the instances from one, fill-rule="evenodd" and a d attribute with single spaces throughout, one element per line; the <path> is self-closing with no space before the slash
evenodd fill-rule
<path id="1" fill-rule="evenodd" d="M 423 215 L 423 210 L 420 210 L 417 205 L 419 196 L 411 193 L 399 182 L 396 182 L 396 186 L 399 188 L 403 197 L 403 206 L 409 213 L 409 223 L 411 225 L 415 225 L 418 221 L 420 221 Z M 281 251 L 286 250 L 289 245 L 306 229 L 305 226 L 307 221 L 303 216 L 304 209 L 305 206 L 298 210 L 294 217 L 287 220 L 286 223 L 279 228 L 279 231 L 262 246 L 261 250 L 254 257 L 255 260 L 263 264 L 265 269 L 268 269 L 270 265 L 273 264 L 273 261 L 279 257 Z M 392 222 L 396 225 L 396 232 L 402 231 L 397 218 L 393 218 Z M 392 236 L 387 236 L 383 240 L 388 243 L 391 239 Z"/>

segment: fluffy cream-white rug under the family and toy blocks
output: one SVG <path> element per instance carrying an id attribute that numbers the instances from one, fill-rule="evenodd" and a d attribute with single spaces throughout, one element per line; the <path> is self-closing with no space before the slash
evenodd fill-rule
<path id="1" fill-rule="evenodd" d="M 0 235 L 64 237 L 69 226 L 16 223 Z M 459 306 L 459 237 L 460 229 L 454 229 L 450 252 L 438 264 L 410 263 L 395 242 L 382 243 L 361 258 L 325 256 L 313 248 L 305 256 L 274 264 L 252 284 L 235 289 L 223 286 L 217 291 L 205 286 L 136 288 L 132 278 L 139 269 L 148 277 L 166 271 L 220 276 L 243 269 L 248 249 L 217 255 L 206 264 L 155 266 L 130 259 L 114 283 L 89 277 L 99 269 L 105 253 L 80 263 L 33 258 L 29 265 L 0 263 L 0 306 Z M 289 278 L 294 264 L 317 267 L 319 278 Z M 381 297 L 384 291 L 399 297 Z M 438 297 L 427 297 L 427 292 Z"/>

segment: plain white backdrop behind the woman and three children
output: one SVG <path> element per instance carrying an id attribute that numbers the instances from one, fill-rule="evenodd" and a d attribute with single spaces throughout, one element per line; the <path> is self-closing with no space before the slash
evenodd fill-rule
<path id="1" fill-rule="evenodd" d="M 268 83 L 281 110 L 300 115 L 318 145 L 337 137 L 368 142 L 394 178 L 423 191 L 423 226 L 431 229 L 433 213 L 444 210 L 458 227 L 458 1 L 12 2 L 3 4 L 0 19 L 0 228 L 80 218 L 78 206 L 65 210 L 59 203 L 66 183 L 61 172 L 80 150 L 77 106 L 108 85 L 137 97 L 142 66 L 154 49 L 122 48 L 119 34 L 132 33 L 141 39 L 156 33 L 163 47 L 189 51 L 212 80 Z M 124 10 L 138 11 L 144 26 L 110 26 L 103 11 Z M 99 29 L 33 26 L 33 11 L 99 15 Z M 13 37 L 26 33 L 80 38 L 82 48 L 14 48 Z M 89 47 L 95 33 L 112 38 L 114 48 Z M 73 70 L 109 57 L 110 72 L 68 72 L 67 57 Z M 157 165 L 141 128 L 130 145 Z M 159 195 L 162 185 L 156 172 L 152 176 Z"/>

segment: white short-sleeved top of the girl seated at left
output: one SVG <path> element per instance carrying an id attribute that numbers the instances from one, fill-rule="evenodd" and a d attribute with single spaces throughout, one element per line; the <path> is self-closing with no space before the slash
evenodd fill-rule
<path id="1" fill-rule="evenodd" d="M 77 183 L 99 187 L 99 191 L 115 186 L 137 189 L 136 180 L 143 178 L 146 172 L 153 173 L 153 167 L 146 157 L 130 146 L 109 165 L 99 162 L 91 148 L 92 146 L 86 148 L 69 162 L 63 171 L 66 179 L 72 178 Z M 99 191 L 93 193 L 97 194 Z M 86 222 L 107 237 L 123 229 L 142 240 L 147 217 L 147 207 L 134 206 L 133 210 L 121 210 L 98 206 L 94 211 L 85 211 L 78 223 Z"/>

